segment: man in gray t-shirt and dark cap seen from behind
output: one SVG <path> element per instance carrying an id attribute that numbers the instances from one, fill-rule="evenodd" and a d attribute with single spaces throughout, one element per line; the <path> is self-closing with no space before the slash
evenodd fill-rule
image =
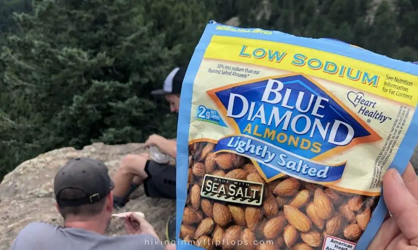
<path id="1" fill-rule="evenodd" d="M 18 233 L 11 250 L 163 250 L 154 228 L 134 213 L 124 219 L 130 235 L 104 235 L 113 211 L 113 186 L 103 162 L 70 160 L 54 179 L 56 207 L 64 226 L 32 222 Z"/>

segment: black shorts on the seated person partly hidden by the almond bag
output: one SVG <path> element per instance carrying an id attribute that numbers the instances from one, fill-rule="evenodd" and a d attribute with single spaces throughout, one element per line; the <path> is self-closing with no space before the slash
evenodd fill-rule
<path id="1" fill-rule="evenodd" d="M 153 198 L 175 199 L 175 166 L 148 160 L 148 177 L 144 180 L 145 195 Z"/>

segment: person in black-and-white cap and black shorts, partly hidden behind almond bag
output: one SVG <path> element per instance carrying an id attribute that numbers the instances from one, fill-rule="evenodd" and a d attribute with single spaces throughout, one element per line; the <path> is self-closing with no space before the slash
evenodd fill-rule
<path id="1" fill-rule="evenodd" d="M 186 70 L 176 67 L 166 77 L 162 89 L 151 92 L 152 95 L 164 96 L 170 103 L 171 112 L 178 113 L 180 92 Z M 163 153 L 176 158 L 177 146 L 175 140 L 166 139 L 153 134 L 145 142 L 145 147 L 156 146 Z M 129 196 L 139 185 L 143 184 L 145 195 L 153 198 L 175 199 L 175 166 L 160 164 L 149 158 L 147 153 L 128 154 L 123 157 L 121 165 L 114 177 L 114 205 L 123 207 Z M 167 234 L 175 234 L 175 219 L 167 223 Z M 169 240 L 174 240 L 167 235 Z"/>

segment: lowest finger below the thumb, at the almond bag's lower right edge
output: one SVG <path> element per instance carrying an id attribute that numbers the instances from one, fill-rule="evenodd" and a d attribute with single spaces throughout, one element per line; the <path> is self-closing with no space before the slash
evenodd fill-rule
<path id="1" fill-rule="evenodd" d="M 393 240 L 396 235 L 400 234 L 401 230 L 396 224 L 396 219 L 390 217 L 382 223 L 377 231 L 376 235 L 373 237 L 372 242 L 368 246 L 368 250 L 377 250 L 377 249 L 386 249 L 391 240 Z"/>

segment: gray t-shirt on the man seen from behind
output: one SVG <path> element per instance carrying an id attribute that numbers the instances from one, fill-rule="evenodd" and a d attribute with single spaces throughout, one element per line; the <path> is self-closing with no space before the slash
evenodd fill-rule
<path id="1" fill-rule="evenodd" d="M 32 222 L 22 229 L 11 250 L 164 250 L 151 234 L 106 236 L 79 228 Z"/>

